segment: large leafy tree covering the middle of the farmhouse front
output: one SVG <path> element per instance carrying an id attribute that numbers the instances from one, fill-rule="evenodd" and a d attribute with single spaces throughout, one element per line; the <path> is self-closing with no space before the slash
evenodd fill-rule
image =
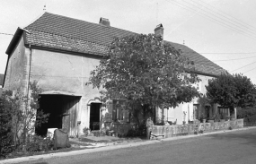
<path id="1" fill-rule="evenodd" d="M 193 62 L 154 34 L 116 38 L 109 53 L 91 72 L 88 83 L 103 88 L 106 99 L 127 99 L 128 107 L 141 106 L 145 112 L 176 107 L 190 102 L 199 92 Z"/>

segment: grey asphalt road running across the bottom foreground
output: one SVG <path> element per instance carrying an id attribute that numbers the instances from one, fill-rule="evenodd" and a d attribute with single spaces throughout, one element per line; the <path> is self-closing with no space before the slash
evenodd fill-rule
<path id="1" fill-rule="evenodd" d="M 25 162 L 28 163 L 28 162 Z M 33 164 L 256 163 L 256 129 L 165 141 L 113 151 L 29 162 Z"/>

